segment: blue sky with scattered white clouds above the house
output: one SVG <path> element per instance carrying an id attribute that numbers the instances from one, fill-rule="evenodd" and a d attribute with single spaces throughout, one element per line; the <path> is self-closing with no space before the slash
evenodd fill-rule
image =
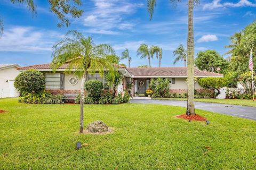
<path id="1" fill-rule="evenodd" d="M 174 7 L 168 0 L 158 0 L 151 21 L 146 3 L 146 0 L 83 1 L 83 16 L 70 19 L 68 28 L 58 28 L 58 19 L 49 12 L 47 1 L 35 0 L 37 14 L 33 16 L 25 5 L 2 0 L 0 18 L 4 22 L 4 34 L 0 38 L 0 63 L 22 66 L 50 63 L 53 44 L 67 31 L 78 30 L 92 36 L 96 44 L 110 44 L 118 55 L 128 48 L 132 67 L 148 63 L 136 56 L 142 43 L 162 47 L 162 66 L 173 66 L 173 50 L 179 44 L 186 45 L 187 1 Z M 215 49 L 223 55 L 229 37 L 255 19 L 255 0 L 202 0 L 194 10 L 195 53 Z M 153 66 L 157 63 L 156 59 L 151 62 Z M 183 66 L 183 62 L 175 66 Z"/>

